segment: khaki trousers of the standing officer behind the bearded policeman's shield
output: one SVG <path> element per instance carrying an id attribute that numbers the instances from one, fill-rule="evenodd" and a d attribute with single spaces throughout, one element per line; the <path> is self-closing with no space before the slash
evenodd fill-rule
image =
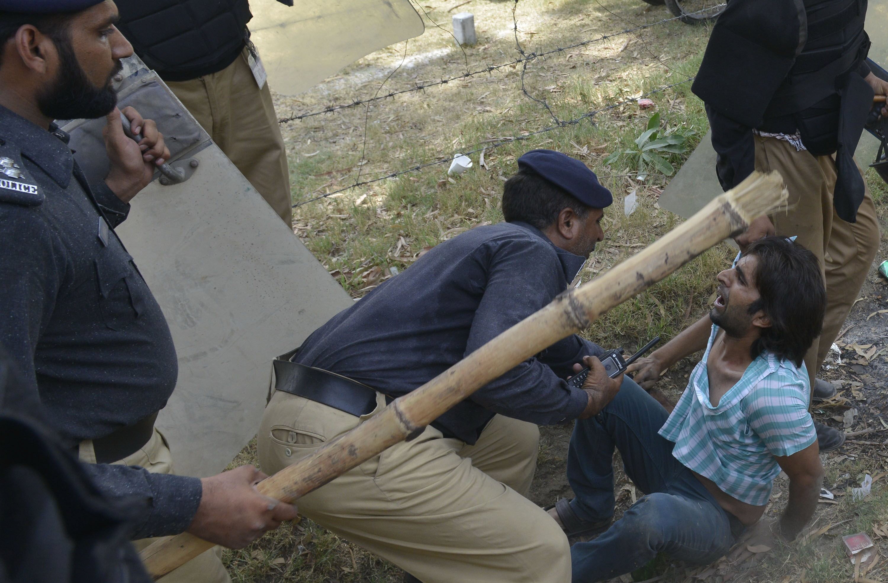
<path id="1" fill-rule="evenodd" d="M 287 150 L 268 83 L 260 90 L 246 48 L 218 73 L 167 83 L 287 225 L 292 224 Z"/>

